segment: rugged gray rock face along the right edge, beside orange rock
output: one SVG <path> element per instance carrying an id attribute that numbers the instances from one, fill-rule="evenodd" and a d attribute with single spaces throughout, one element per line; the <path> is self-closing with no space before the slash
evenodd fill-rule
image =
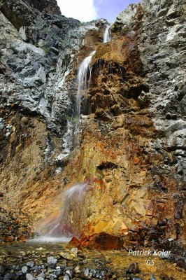
<path id="1" fill-rule="evenodd" d="M 169 151 L 174 168 L 185 161 L 185 10 L 184 1 L 142 0 L 148 10 L 143 18 L 141 61 L 150 87 L 150 112 L 156 130 L 162 134 L 155 148 Z M 161 151 L 159 152 L 161 153 Z M 164 169 L 169 169 L 165 165 Z M 186 171 L 186 169 L 185 169 Z M 183 169 L 183 176 L 185 176 Z M 180 175 L 178 174 L 180 179 Z"/>

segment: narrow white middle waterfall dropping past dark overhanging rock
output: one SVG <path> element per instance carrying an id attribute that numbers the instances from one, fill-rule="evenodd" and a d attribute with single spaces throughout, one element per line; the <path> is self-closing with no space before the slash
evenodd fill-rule
<path id="1" fill-rule="evenodd" d="M 76 116 L 80 118 L 80 102 L 83 91 L 87 92 L 87 88 L 89 87 L 90 79 L 91 79 L 91 71 L 92 68 L 90 67 L 92 56 L 96 51 L 90 53 L 88 57 L 86 57 L 83 62 L 80 64 L 80 68 L 78 70 L 78 93 L 76 96 Z M 90 72 L 90 78 L 87 82 L 87 73 Z"/>

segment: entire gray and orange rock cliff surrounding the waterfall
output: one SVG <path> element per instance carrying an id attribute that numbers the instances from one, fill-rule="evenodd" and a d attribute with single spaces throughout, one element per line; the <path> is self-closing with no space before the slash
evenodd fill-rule
<path id="1" fill-rule="evenodd" d="M 109 43 L 102 42 L 106 20 L 65 18 L 55 1 L 8 0 L 0 10 L 2 207 L 34 221 L 51 214 L 50 221 L 63 190 L 87 182 L 83 204 L 69 208 L 74 235 L 106 232 L 122 237 L 124 248 L 145 241 L 182 254 L 184 1 L 130 5 Z M 76 75 L 92 50 L 75 145 Z"/>

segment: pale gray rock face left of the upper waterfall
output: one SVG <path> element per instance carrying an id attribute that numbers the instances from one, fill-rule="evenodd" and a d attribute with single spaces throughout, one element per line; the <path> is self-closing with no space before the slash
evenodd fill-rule
<path id="1" fill-rule="evenodd" d="M 38 113 L 51 130 L 63 134 L 71 111 L 66 80 L 85 32 L 95 23 L 80 26 L 78 20 L 37 10 L 34 22 L 18 32 L 5 15 L 0 12 L 1 106 Z"/>

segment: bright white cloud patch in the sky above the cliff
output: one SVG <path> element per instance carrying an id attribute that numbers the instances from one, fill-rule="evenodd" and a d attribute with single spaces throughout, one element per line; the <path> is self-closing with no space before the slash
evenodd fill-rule
<path id="1" fill-rule="evenodd" d="M 57 0 L 62 15 L 83 22 L 96 20 L 97 12 L 94 0 Z"/>

